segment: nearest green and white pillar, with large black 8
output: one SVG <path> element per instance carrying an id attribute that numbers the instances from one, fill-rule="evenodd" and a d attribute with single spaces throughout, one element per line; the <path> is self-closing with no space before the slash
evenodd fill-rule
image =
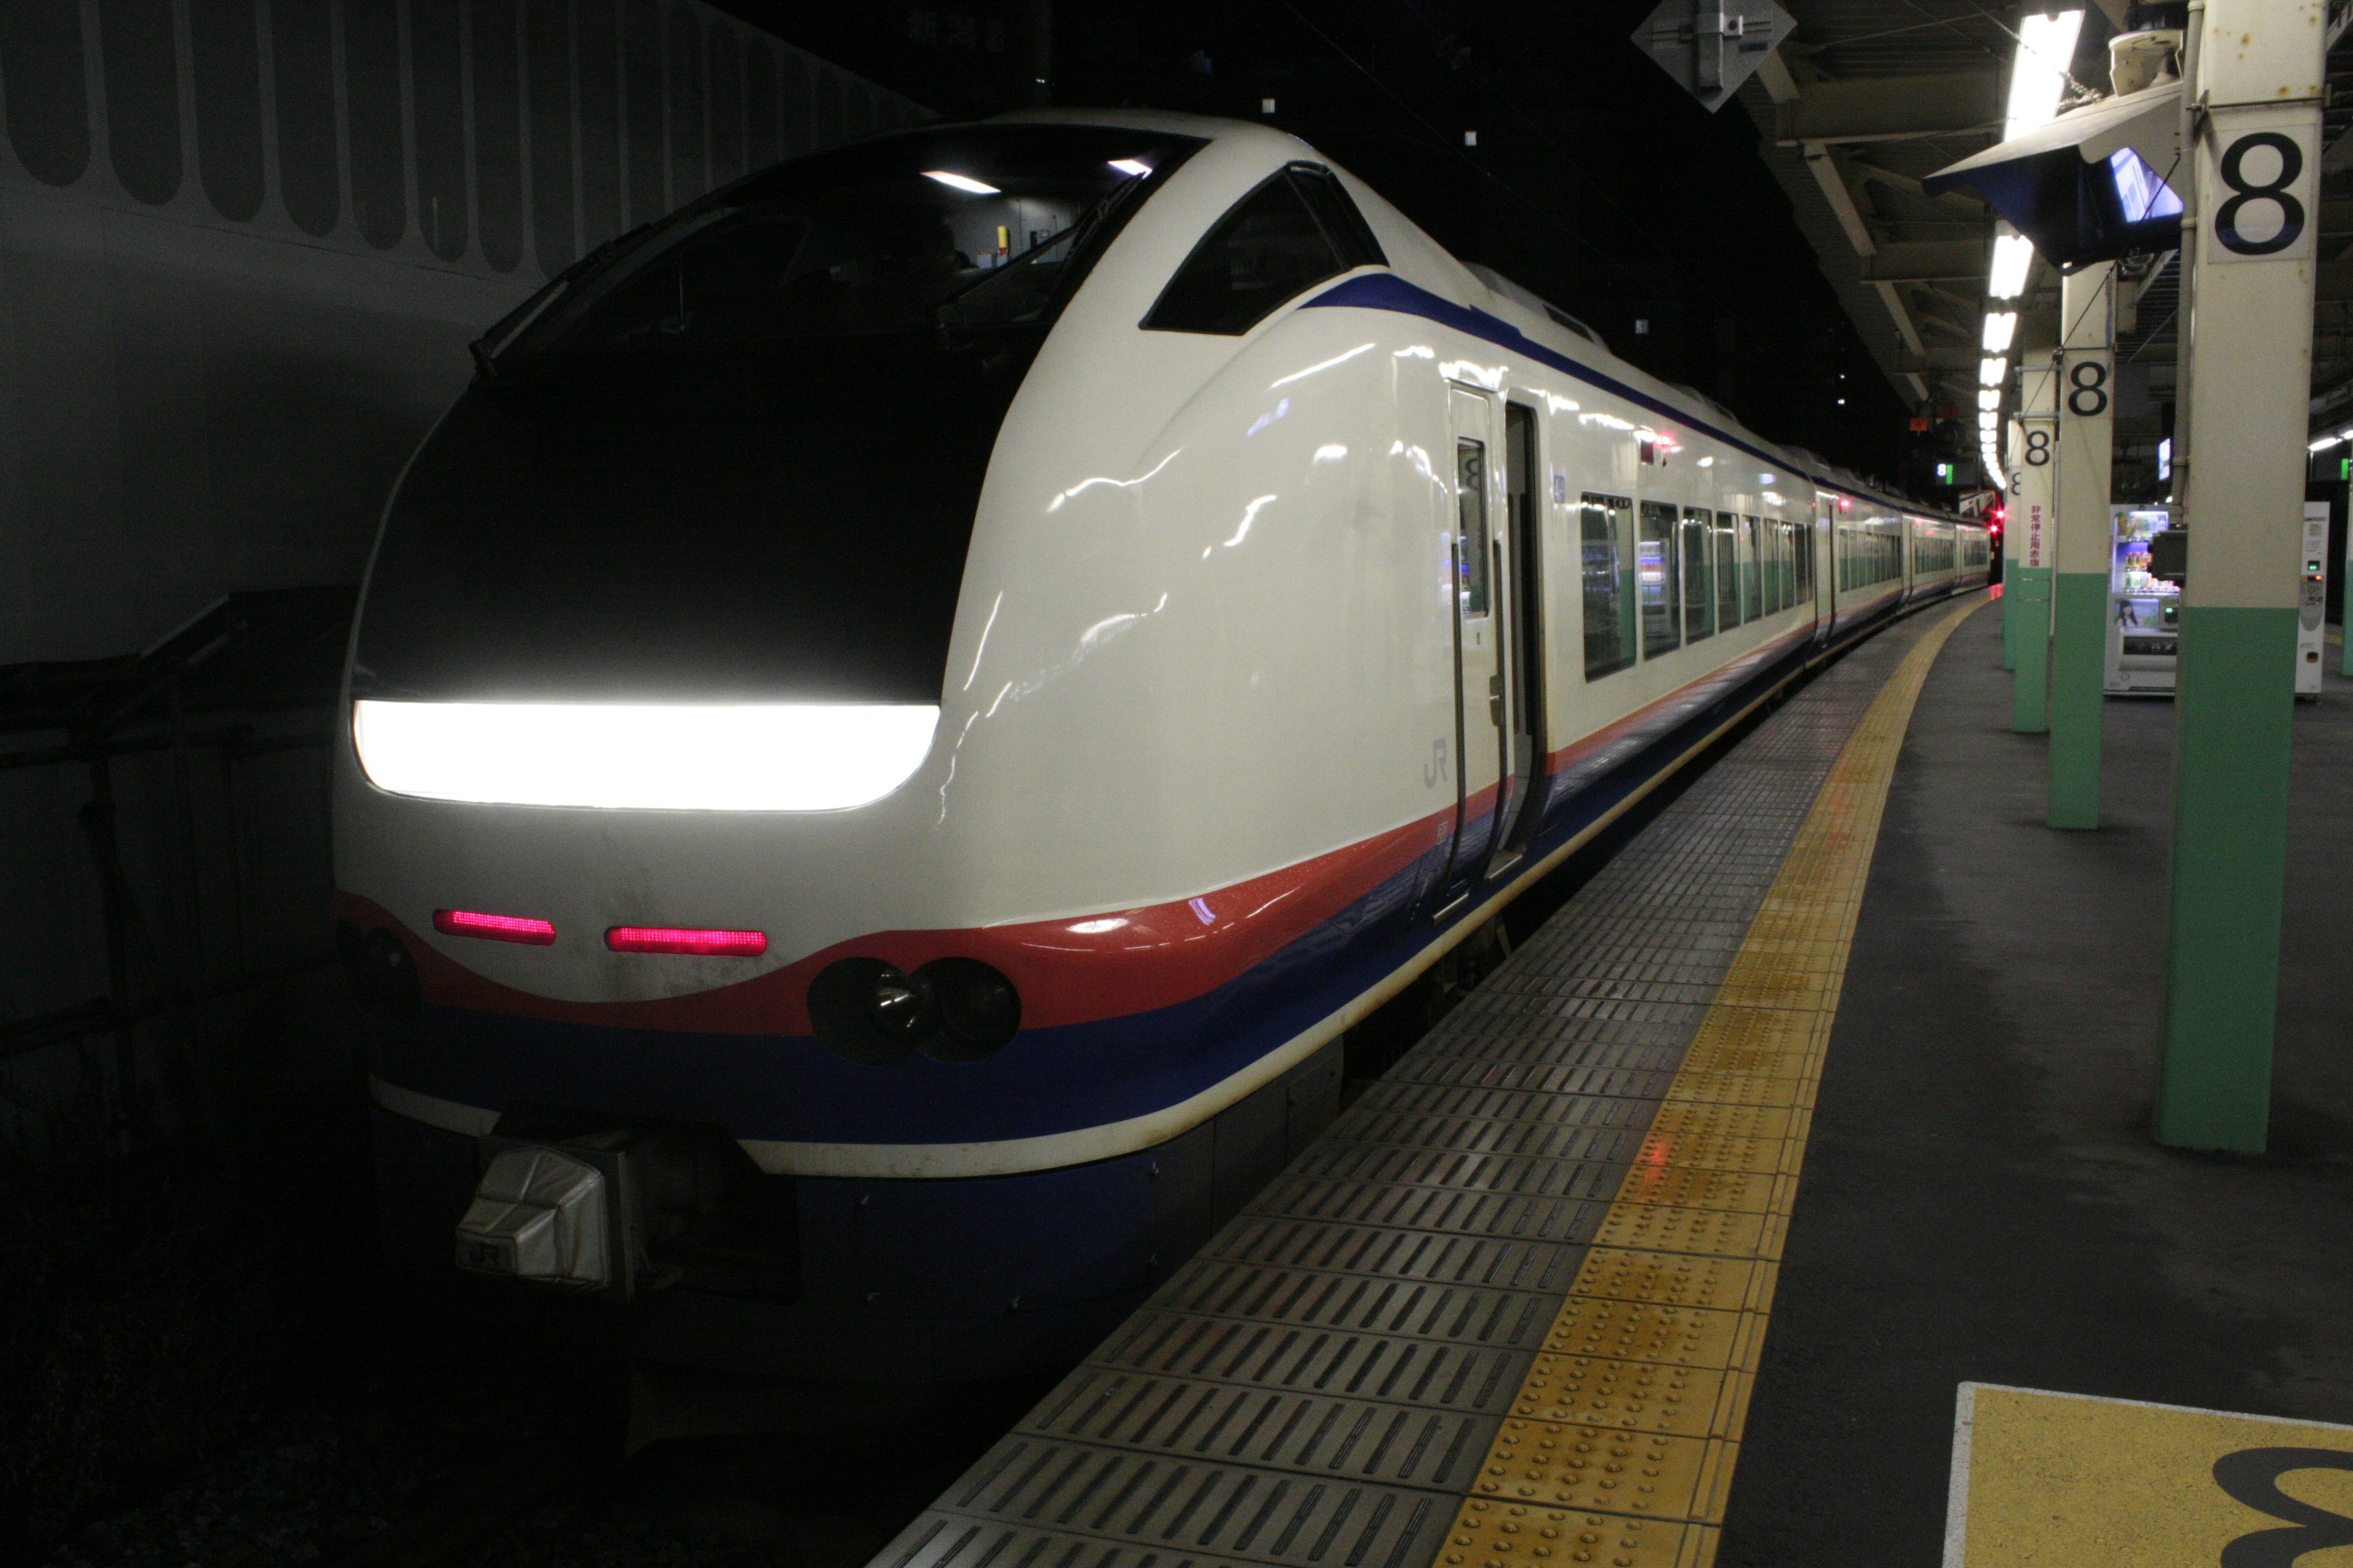
<path id="1" fill-rule="evenodd" d="M 2198 9 L 2191 9 L 2193 26 Z M 2158 1140 L 2264 1150 L 2280 987 L 2322 0 L 2207 0 L 2181 259 L 2195 266 L 2188 578 Z"/>

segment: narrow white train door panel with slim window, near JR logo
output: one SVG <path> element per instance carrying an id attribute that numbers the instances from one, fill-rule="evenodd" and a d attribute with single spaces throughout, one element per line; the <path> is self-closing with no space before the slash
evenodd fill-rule
<path id="1" fill-rule="evenodd" d="M 1471 896 L 1487 863 L 1508 780 L 1506 597 L 1497 522 L 1504 487 L 1494 463 L 1494 404 L 1466 388 L 1447 393 L 1454 425 L 1454 538 L 1447 550 L 1454 595 L 1454 844 L 1438 877 L 1435 914 Z"/>

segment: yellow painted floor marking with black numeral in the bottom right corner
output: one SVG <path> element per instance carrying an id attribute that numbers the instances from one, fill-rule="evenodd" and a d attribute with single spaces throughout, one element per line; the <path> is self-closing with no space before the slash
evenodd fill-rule
<path id="1" fill-rule="evenodd" d="M 1993 1382 L 1955 1406 L 1946 1568 L 2320 1568 L 2353 1544 L 2353 1427 Z"/>

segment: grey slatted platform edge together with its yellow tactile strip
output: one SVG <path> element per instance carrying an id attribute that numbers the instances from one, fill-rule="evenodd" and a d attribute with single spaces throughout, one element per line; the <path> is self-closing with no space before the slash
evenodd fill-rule
<path id="1" fill-rule="evenodd" d="M 1939 639 L 1694 778 L 875 1568 L 1711 1563 Z"/>

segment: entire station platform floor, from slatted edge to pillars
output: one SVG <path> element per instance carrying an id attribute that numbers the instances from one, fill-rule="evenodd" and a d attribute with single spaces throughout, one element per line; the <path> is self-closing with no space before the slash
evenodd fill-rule
<path id="1" fill-rule="evenodd" d="M 2172 710 L 2108 710 L 2113 825 L 2054 835 L 1998 609 L 1826 665 L 875 1568 L 1991 1563 L 1993 1514 L 2080 1488 L 2049 1481 L 2068 1441 L 2162 1490 L 2242 1436 L 2212 1410 L 2353 1415 L 2353 983 L 2325 969 L 2353 686 L 2299 717 L 2329 853 L 2289 896 L 2264 1161 L 2146 1135 Z M 2261 1432 L 2231 1453 L 2344 1439 L 2320 1474 L 2353 1505 L 2353 1432 Z M 2191 1500 L 2217 1544 L 2329 1528 L 2233 1465 Z"/>

